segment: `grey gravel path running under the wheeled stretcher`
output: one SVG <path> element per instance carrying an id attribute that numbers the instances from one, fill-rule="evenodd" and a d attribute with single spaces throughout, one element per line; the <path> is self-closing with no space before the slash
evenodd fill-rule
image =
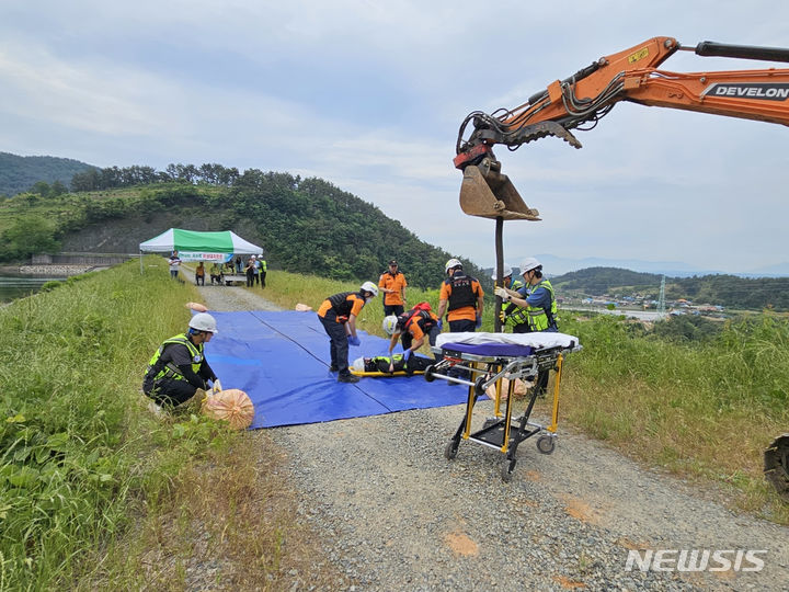
<path id="1" fill-rule="evenodd" d="M 201 292 L 214 310 L 277 309 L 240 287 Z M 478 405 L 476 422 L 491 405 Z M 525 441 L 504 483 L 498 451 L 461 442 L 456 459 L 444 457 L 464 412 L 454 406 L 267 432 L 288 456 L 297 520 L 350 590 L 789 590 L 789 528 L 733 514 L 710 492 L 645 470 L 565 424 L 552 455 Z M 630 549 L 641 557 L 728 550 L 730 565 L 737 549 L 764 550 L 764 569 L 745 571 L 754 563 L 743 559 L 739 569 L 683 573 L 671 568 L 678 553 L 668 553 L 664 571 L 628 571 Z M 291 589 L 311 585 L 296 578 Z"/>

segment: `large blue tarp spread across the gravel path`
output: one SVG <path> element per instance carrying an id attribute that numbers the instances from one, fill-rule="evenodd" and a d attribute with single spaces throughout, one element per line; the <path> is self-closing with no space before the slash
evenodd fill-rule
<path id="1" fill-rule="evenodd" d="M 206 357 L 224 388 L 240 388 L 255 407 L 252 428 L 317 423 L 407 409 L 465 403 L 467 388 L 423 376 L 338 383 L 329 372 L 329 335 L 315 312 L 214 312 L 219 332 Z M 350 358 L 380 355 L 388 340 L 358 332 Z"/>

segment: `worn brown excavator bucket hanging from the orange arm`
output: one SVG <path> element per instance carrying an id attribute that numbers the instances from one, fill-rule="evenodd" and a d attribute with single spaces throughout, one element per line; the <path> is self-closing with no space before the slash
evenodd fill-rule
<path id="1" fill-rule="evenodd" d="M 469 164 L 464 169 L 460 207 L 469 216 L 482 218 L 540 219 L 539 212 L 524 203 L 507 175 L 490 166 Z"/>

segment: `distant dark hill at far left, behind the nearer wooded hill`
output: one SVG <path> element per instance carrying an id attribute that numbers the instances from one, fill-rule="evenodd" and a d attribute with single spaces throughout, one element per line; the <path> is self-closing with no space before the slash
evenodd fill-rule
<path id="1" fill-rule="evenodd" d="M 21 157 L 0 152 L 0 195 L 12 196 L 28 191 L 38 182 L 59 182 L 68 187 L 75 174 L 94 167 L 71 160 L 47 156 Z"/>

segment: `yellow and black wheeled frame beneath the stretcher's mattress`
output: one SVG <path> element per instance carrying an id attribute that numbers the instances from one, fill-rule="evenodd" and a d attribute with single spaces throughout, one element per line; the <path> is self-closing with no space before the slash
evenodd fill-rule
<path id="1" fill-rule="evenodd" d="M 466 440 L 498 449 L 505 455 L 501 467 L 501 478 L 508 482 L 512 480 L 515 465 L 517 464 L 516 453 L 518 445 L 531 436 L 537 435 L 537 449 L 542 454 L 551 454 L 556 448 L 557 428 L 559 423 L 559 394 L 561 388 L 561 375 L 564 356 L 574 351 L 581 350 L 576 342 L 571 346 L 552 346 L 534 350 L 530 355 L 480 355 L 458 351 L 457 345 L 446 343 L 442 348 L 433 348 L 433 352 L 442 356 L 441 361 L 425 371 L 425 380 L 433 382 L 436 378 L 449 383 L 467 385 L 468 398 L 466 413 L 455 435 L 447 443 L 444 456 L 453 460 L 457 456 L 460 441 Z M 451 376 L 449 369 L 465 371 L 474 380 Z M 542 425 L 529 421 L 537 397 L 540 395 L 533 384 L 529 389 L 526 410 L 518 418 L 513 418 L 513 401 L 515 380 L 522 379 L 535 383 L 541 372 L 554 372 L 552 389 L 552 408 L 550 424 Z M 504 411 L 501 410 L 502 402 L 502 378 L 507 378 L 507 397 Z M 471 432 L 471 419 L 473 407 L 481 395 L 489 387 L 495 385 L 494 417 L 485 420 L 481 430 Z"/>

